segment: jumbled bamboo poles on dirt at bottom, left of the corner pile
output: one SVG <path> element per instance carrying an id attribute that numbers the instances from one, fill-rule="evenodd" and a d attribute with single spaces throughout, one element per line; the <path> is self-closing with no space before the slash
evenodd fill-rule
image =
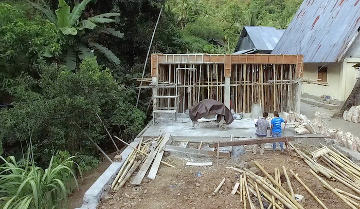
<path id="1" fill-rule="evenodd" d="M 291 186 L 290 178 L 287 176 L 285 167 L 282 167 L 283 174 L 286 178 L 286 185 L 290 192 L 282 186 L 281 171 L 275 168 L 274 177 L 266 172 L 266 170 L 255 161 L 256 166 L 261 170 L 265 177 L 258 176 L 251 170 L 246 168 L 229 167 L 237 172 L 240 172 L 240 188 L 236 193 L 240 194 L 240 202 L 243 202 L 244 208 L 249 205 L 250 209 L 258 208 L 254 201 L 259 202 L 259 207 L 264 208 L 299 208 L 303 206 L 296 201 L 294 191 Z M 236 184 L 237 185 L 237 184 Z M 253 197 L 253 199 L 251 199 Z M 254 201 L 253 201 L 254 200 Z"/>

